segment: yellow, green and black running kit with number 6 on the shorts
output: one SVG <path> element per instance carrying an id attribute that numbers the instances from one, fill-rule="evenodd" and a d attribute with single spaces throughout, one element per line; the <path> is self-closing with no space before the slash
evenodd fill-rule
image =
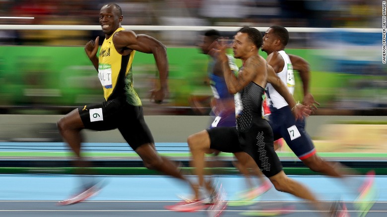
<path id="1" fill-rule="evenodd" d="M 118 128 L 133 150 L 142 144 L 154 143 L 144 121 L 141 101 L 133 89 L 131 64 L 135 51 L 119 54 L 113 44 L 113 35 L 105 39 L 99 52 L 98 78 L 105 102 L 78 108 L 86 129 L 112 130 Z"/>

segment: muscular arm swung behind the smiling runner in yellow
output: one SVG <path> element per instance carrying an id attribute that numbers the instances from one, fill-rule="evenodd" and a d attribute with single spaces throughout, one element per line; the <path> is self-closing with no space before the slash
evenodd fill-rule
<path id="1" fill-rule="evenodd" d="M 148 35 L 136 35 L 132 31 L 120 31 L 113 36 L 114 45 L 119 53 L 126 51 L 138 51 L 146 54 L 153 54 L 159 71 L 160 89 L 152 90 L 151 98 L 154 98 L 156 103 L 163 101 L 168 92 L 168 58 L 166 47 Z M 122 49 L 120 52 L 119 50 Z"/>

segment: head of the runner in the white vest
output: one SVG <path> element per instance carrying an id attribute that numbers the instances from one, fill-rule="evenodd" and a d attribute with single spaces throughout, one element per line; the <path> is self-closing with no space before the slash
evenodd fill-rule
<path id="1" fill-rule="evenodd" d="M 270 54 L 284 50 L 289 42 L 289 32 L 282 26 L 271 26 L 263 36 L 262 51 Z"/>

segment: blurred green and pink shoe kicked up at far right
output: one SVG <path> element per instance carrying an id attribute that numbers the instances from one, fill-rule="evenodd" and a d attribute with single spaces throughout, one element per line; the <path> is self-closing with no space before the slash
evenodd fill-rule
<path id="1" fill-rule="evenodd" d="M 366 174 L 366 180 L 359 189 L 360 194 L 356 199 L 355 208 L 360 212 L 359 217 L 365 217 L 375 204 L 377 191 L 374 185 L 375 171 Z"/>

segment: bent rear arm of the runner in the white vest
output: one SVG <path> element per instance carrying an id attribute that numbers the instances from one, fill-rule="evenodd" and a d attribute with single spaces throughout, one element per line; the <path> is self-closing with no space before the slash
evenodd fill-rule
<path id="1" fill-rule="evenodd" d="M 311 106 L 313 109 L 317 109 L 316 105 L 320 106 L 320 103 L 315 101 L 313 95 L 309 92 L 309 81 L 310 81 L 310 67 L 309 63 L 302 57 L 288 54 L 290 61 L 292 62 L 293 69 L 297 70 L 300 73 L 303 90 L 304 90 L 304 99 L 303 104 L 306 106 Z M 316 104 L 316 105 L 315 105 Z"/>

